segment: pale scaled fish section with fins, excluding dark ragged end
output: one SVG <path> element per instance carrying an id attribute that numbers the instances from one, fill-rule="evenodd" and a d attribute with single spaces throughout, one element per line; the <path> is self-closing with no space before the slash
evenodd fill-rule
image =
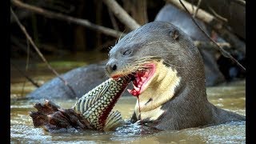
<path id="1" fill-rule="evenodd" d="M 79 98 L 72 108 L 95 130 L 115 130 L 124 121 L 119 111 L 111 110 L 129 82 L 127 78 L 110 78 Z"/>

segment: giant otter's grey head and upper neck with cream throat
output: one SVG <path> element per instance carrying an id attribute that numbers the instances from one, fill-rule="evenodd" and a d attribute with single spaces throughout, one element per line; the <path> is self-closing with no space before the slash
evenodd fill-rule
<path id="1" fill-rule="evenodd" d="M 162 105 L 184 86 L 200 87 L 202 93 L 205 90 L 198 49 L 182 30 L 168 22 L 150 22 L 122 38 L 110 50 L 106 74 L 134 78 L 134 89 L 128 91 L 139 97 L 142 118 L 150 120 L 163 114 Z M 138 102 L 135 113 L 138 118 Z"/>

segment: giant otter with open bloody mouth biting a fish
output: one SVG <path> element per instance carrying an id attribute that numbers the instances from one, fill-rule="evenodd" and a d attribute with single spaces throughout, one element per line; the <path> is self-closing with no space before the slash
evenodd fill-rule
<path id="1" fill-rule="evenodd" d="M 202 56 L 169 22 L 150 22 L 122 38 L 110 50 L 106 73 L 133 75 L 129 91 L 138 96 L 141 113 L 137 101 L 132 122 L 141 118 L 158 130 L 180 130 L 246 120 L 208 101 Z"/>

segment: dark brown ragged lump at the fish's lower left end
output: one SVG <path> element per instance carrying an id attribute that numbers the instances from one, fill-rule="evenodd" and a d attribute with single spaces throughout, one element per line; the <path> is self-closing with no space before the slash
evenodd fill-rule
<path id="1" fill-rule="evenodd" d="M 63 109 L 54 102 L 46 100 L 43 104 L 36 103 L 34 108 L 38 111 L 31 111 L 30 117 L 35 127 L 42 127 L 49 132 L 60 132 L 68 128 L 77 128 L 80 130 L 92 129 L 90 122 L 77 114 L 73 109 Z"/>

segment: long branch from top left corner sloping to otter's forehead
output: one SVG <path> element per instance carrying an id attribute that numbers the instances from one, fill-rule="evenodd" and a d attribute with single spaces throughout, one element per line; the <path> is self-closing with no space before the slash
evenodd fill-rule
<path id="1" fill-rule="evenodd" d="M 59 19 L 59 20 L 67 21 L 67 22 L 73 22 L 73 23 L 81 25 L 81 26 L 86 26 L 86 27 L 88 27 L 92 30 L 100 31 L 103 34 L 110 35 L 114 38 L 119 38 L 120 35 L 122 35 L 122 32 L 120 32 L 120 31 L 113 30 L 113 29 L 110 29 L 110 28 L 107 28 L 107 27 L 104 27 L 104 26 L 95 25 L 94 23 L 92 23 L 92 22 L 90 22 L 86 19 L 74 18 L 74 17 L 67 16 L 65 14 L 59 14 L 59 13 L 52 12 L 50 10 L 44 10 L 44 9 L 39 8 L 37 6 L 30 6 L 26 3 L 23 3 L 21 1 L 19 1 L 19 0 L 11 0 L 11 2 L 15 6 L 24 8 L 26 10 L 30 10 L 30 11 L 32 11 L 34 13 L 37 13 L 37 14 L 42 14 L 42 15 L 46 16 L 47 18 L 56 18 L 56 19 Z"/>

